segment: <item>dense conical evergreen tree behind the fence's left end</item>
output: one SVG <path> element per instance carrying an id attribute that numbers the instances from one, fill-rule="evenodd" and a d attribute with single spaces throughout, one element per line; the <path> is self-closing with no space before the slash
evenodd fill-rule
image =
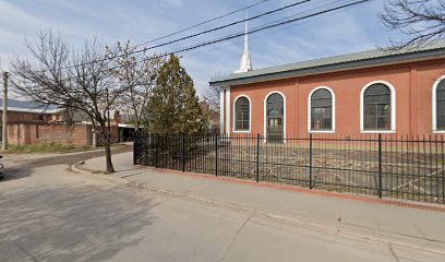
<path id="1" fill-rule="evenodd" d="M 149 130 L 158 134 L 197 134 L 206 130 L 207 116 L 196 96 L 192 78 L 171 55 L 159 69 L 148 102 Z"/>

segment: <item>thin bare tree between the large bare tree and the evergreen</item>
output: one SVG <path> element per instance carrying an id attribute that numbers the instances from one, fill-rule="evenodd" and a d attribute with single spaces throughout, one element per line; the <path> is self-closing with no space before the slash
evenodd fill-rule
<path id="1" fill-rule="evenodd" d="M 137 130 L 146 119 L 148 98 L 165 57 L 148 56 L 146 50 L 135 52 L 135 49 L 130 41 L 123 45 L 118 41 L 112 48 L 106 47 L 106 53 L 111 60 L 111 74 L 121 88 L 125 90 L 116 108 L 129 116 Z"/>

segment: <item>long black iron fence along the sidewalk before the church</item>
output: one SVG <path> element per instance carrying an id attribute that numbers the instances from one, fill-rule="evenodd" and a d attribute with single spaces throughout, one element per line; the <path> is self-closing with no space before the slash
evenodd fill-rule
<path id="1" fill-rule="evenodd" d="M 445 203 L 442 135 L 136 134 L 134 164 Z"/>

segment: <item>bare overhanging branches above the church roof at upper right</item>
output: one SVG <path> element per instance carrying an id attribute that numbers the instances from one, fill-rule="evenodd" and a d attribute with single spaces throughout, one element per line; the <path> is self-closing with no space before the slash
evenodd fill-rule
<path id="1" fill-rule="evenodd" d="M 383 24 L 406 36 L 392 40 L 393 48 L 413 48 L 445 36 L 444 0 L 388 0 L 380 17 Z"/>

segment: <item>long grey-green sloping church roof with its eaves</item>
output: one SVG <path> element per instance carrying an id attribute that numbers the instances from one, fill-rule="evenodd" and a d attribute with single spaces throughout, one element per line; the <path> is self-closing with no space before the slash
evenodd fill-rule
<path id="1" fill-rule="evenodd" d="M 244 73 L 233 73 L 211 81 L 209 84 L 214 86 L 230 86 L 258 83 L 279 79 L 397 64 L 410 61 L 431 60 L 444 57 L 445 40 L 440 40 L 417 48 L 404 48 L 399 50 L 375 49 L 263 68 Z"/>

